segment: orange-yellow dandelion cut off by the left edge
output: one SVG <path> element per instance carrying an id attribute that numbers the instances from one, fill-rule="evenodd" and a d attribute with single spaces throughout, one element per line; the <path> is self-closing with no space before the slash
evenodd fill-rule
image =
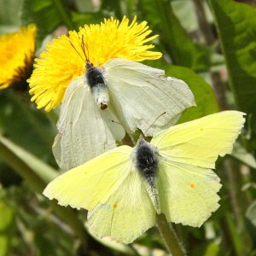
<path id="1" fill-rule="evenodd" d="M 0 36 L 0 89 L 26 77 L 35 55 L 36 32 L 37 27 L 31 24 Z"/>

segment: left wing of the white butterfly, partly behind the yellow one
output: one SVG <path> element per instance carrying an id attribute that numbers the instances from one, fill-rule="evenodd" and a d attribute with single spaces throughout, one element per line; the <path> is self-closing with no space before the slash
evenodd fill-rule
<path id="1" fill-rule="evenodd" d="M 125 136 L 111 108 L 100 110 L 83 77 L 68 85 L 57 123 L 53 153 L 63 171 L 84 164 L 110 148 Z"/>

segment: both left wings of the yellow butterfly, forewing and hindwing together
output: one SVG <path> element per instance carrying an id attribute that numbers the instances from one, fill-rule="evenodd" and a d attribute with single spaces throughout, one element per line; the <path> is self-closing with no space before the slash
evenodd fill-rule
<path id="1" fill-rule="evenodd" d="M 146 185 L 121 146 L 56 177 L 44 189 L 62 206 L 88 209 L 88 225 L 99 237 L 130 243 L 155 224 Z"/>

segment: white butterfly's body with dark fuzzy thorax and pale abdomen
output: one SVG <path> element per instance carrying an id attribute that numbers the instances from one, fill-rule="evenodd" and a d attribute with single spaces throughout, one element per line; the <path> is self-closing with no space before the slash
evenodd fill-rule
<path id="1" fill-rule="evenodd" d="M 108 108 L 108 87 L 105 84 L 102 69 L 100 67 L 94 67 L 90 61 L 86 62 L 85 68 L 85 78 L 93 96 L 95 97 L 98 107 L 102 110 Z"/>

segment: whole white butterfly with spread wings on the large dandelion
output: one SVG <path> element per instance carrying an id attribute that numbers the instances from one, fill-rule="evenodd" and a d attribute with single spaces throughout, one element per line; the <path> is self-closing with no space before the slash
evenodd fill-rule
<path id="1" fill-rule="evenodd" d="M 163 70 L 125 59 L 94 67 L 85 58 L 86 75 L 68 85 L 57 123 L 53 152 L 63 171 L 116 147 L 125 131 L 138 128 L 152 136 L 175 124 L 184 109 L 195 106 L 189 86 L 166 78 Z"/>

